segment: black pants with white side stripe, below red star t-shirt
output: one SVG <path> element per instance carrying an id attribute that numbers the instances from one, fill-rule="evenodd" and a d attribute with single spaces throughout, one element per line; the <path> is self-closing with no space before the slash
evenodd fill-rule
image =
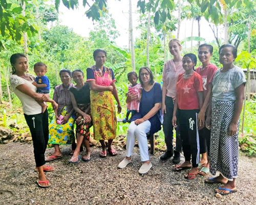
<path id="1" fill-rule="evenodd" d="M 178 110 L 180 121 L 180 136 L 185 161 L 191 160 L 192 166 L 198 167 L 200 159 L 199 133 L 197 129 L 197 115 L 199 110 Z"/>

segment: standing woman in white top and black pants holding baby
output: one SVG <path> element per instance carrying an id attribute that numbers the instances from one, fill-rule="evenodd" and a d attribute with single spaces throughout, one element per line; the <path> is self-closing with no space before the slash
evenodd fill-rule
<path id="1" fill-rule="evenodd" d="M 10 84 L 14 93 L 22 102 L 25 119 L 33 140 L 35 171 L 38 171 L 38 180 L 36 182 L 39 187 L 50 187 L 51 184 L 44 173 L 44 171 L 53 171 L 52 167 L 44 166 L 46 163 L 45 151 L 49 137 L 48 111 L 45 109 L 42 112 L 42 107 L 37 101 L 52 102 L 53 109 L 57 109 L 58 105 L 54 100 L 49 99 L 48 95 L 36 93 L 36 86 L 33 85 L 35 76 L 27 73 L 28 60 L 24 54 L 13 54 L 10 62 L 12 65 Z"/>

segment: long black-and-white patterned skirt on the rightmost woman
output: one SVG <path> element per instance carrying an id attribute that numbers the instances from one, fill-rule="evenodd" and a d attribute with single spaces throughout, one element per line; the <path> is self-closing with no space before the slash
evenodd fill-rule
<path id="1" fill-rule="evenodd" d="M 238 130 L 228 136 L 228 127 L 234 114 L 233 101 L 212 100 L 210 135 L 210 172 L 219 171 L 232 181 L 238 177 Z"/>

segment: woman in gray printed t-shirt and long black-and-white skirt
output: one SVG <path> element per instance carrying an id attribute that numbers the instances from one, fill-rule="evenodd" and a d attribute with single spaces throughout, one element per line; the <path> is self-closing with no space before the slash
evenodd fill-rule
<path id="1" fill-rule="evenodd" d="M 211 124 L 210 172 L 216 175 L 219 171 L 220 175 L 205 182 L 224 184 L 216 192 L 226 195 L 237 192 L 239 117 L 246 80 L 242 69 L 233 64 L 237 57 L 236 47 L 224 44 L 219 55 L 223 68 L 216 71 L 212 80 L 211 109 L 205 126 L 210 129 Z"/>

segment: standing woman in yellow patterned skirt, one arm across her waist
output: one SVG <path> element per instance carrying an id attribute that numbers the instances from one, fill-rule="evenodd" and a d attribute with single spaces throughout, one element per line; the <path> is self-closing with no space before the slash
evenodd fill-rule
<path id="1" fill-rule="evenodd" d="M 121 106 L 115 86 L 114 72 L 104 66 L 105 50 L 96 49 L 93 52 L 93 58 L 96 64 L 87 68 L 87 82 L 91 89 L 94 139 L 100 141 L 102 146 L 100 157 L 105 158 L 107 147 L 111 156 L 117 155 L 117 151 L 112 146 L 117 126 L 113 95 L 117 101 L 118 113 L 121 112 Z M 105 144 L 105 140 L 108 140 L 108 144 Z"/>

